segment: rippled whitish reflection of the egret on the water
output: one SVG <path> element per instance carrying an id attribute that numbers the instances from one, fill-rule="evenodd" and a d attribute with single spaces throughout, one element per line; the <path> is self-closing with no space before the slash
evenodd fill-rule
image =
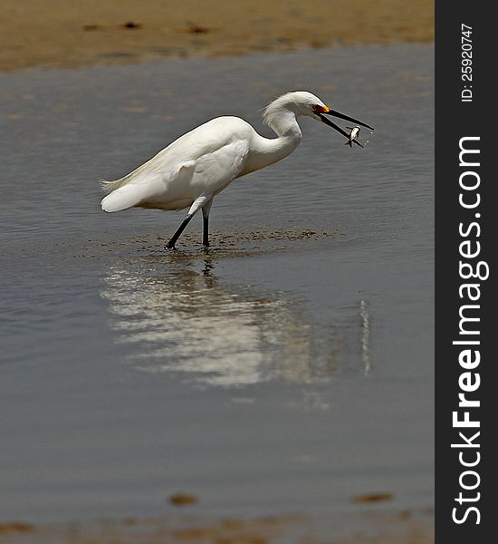
<path id="1" fill-rule="evenodd" d="M 140 369 L 225 387 L 311 384 L 336 374 L 343 360 L 343 329 L 313 324 L 284 293 L 226 285 L 211 257 L 127 260 L 105 280 L 112 327 L 120 343 L 134 345 L 129 357 Z"/>

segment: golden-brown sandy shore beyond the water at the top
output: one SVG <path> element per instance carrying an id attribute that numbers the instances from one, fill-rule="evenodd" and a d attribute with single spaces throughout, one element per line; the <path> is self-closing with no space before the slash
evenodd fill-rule
<path id="1" fill-rule="evenodd" d="M 433 0 L 3 0 L 0 70 L 432 40 Z"/>

